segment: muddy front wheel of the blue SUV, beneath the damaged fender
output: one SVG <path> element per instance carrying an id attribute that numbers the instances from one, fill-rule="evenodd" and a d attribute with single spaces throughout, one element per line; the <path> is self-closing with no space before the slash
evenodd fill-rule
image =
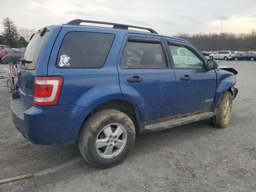
<path id="1" fill-rule="evenodd" d="M 218 110 L 215 116 L 211 118 L 212 125 L 218 128 L 228 126 L 232 114 L 232 95 L 226 91 L 218 104 Z"/>

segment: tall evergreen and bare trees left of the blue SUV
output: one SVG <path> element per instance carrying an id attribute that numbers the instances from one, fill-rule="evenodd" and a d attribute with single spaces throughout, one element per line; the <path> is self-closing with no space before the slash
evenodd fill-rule
<path id="1" fill-rule="evenodd" d="M 0 34 L 0 44 L 11 48 L 21 48 L 28 45 L 29 39 L 35 32 L 33 29 L 18 28 L 8 17 L 1 22 L 3 31 Z"/>

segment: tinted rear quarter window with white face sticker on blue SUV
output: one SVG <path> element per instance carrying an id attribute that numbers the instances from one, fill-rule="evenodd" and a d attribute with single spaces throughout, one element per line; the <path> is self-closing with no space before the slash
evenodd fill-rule
<path id="1" fill-rule="evenodd" d="M 114 37 L 106 33 L 69 32 L 60 46 L 56 67 L 102 68 Z"/>

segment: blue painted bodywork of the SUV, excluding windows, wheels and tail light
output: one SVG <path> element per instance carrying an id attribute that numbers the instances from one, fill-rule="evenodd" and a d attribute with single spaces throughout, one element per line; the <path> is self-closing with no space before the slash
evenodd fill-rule
<path id="1" fill-rule="evenodd" d="M 143 124 L 208 108 L 215 108 L 223 93 L 234 86 L 234 75 L 224 70 L 172 69 L 171 56 L 164 47 L 166 69 L 122 69 L 120 60 L 129 36 L 174 40 L 190 45 L 204 62 L 207 59 L 189 42 L 179 39 L 112 28 L 89 26 L 47 26 L 49 35 L 44 42 L 35 70 L 19 68 L 19 89 L 12 98 L 21 98 L 27 109 L 24 121 L 12 113 L 14 124 L 31 142 L 36 144 L 74 144 L 88 114 L 110 100 L 124 100 L 134 106 L 138 132 Z M 71 31 L 114 34 L 114 42 L 102 68 L 56 68 L 58 51 L 64 36 Z M 182 76 L 192 77 L 189 81 Z M 62 76 L 63 86 L 58 105 L 33 104 L 33 86 L 36 76 Z M 139 76 L 142 82 L 128 82 Z M 29 96 L 30 95 L 30 96 Z M 206 103 L 205 100 L 212 99 Z"/>

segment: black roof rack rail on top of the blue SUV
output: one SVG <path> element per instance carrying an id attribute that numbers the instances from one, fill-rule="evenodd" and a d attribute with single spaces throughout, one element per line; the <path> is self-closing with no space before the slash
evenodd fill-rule
<path id="1" fill-rule="evenodd" d="M 113 28 L 115 29 L 124 29 L 128 30 L 129 27 L 131 28 L 137 28 L 137 29 L 144 29 L 148 30 L 151 33 L 158 34 L 155 30 L 151 28 L 145 28 L 145 27 L 138 27 L 138 26 L 132 26 L 132 25 L 124 25 L 124 24 L 117 24 L 117 23 L 109 23 L 109 22 L 101 22 L 101 21 L 90 21 L 90 20 L 81 20 L 81 19 L 75 19 L 70 22 L 68 22 L 66 25 L 80 25 L 80 23 L 97 23 L 97 24 L 105 24 L 105 25 L 113 25 Z"/>

